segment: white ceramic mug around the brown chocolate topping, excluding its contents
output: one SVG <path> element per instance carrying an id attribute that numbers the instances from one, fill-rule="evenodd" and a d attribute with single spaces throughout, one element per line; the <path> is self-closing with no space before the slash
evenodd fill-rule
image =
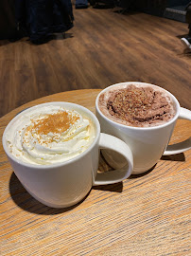
<path id="1" fill-rule="evenodd" d="M 98 106 L 100 95 L 114 86 L 123 88 L 129 84 L 154 86 L 155 88 L 164 90 L 175 105 L 176 115 L 174 118 L 170 119 L 165 124 L 154 127 L 132 127 L 117 123 L 103 115 Z M 96 98 L 96 117 L 100 122 L 101 132 L 113 135 L 114 137 L 119 137 L 130 146 L 134 166 L 132 174 L 142 174 L 148 171 L 157 163 L 162 155 L 179 154 L 191 148 L 191 138 L 188 138 L 181 143 L 167 146 L 177 119 L 191 120 L 191 111 L 180 107 L 179 102 L 171 93 L 154 84 L 146 82 L 121 82 L 105 88 Z M 122 168 L 125 164 L 125 159 L 123 157 L 113 154 L 110 150 L 104 150 L 102 153 L 113 168 Z"/>

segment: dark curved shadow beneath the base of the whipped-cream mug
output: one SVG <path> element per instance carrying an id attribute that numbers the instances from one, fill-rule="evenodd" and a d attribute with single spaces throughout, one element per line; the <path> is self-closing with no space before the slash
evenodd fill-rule
<path id="1" fill-rule="evenodd" d="M 88 196 L 88 193 L 86 197 L 81 200 L 77 205 L 68 207 L 68 208 L 50 208 L 47 206 L 44 206 L 42 203 L 37 201 L 35 198 L 33 198 L 28 192 L 26 192 L 26 189 L 23 187 L 17 176 L 12 173 L 10 180 L 9 180 L 9 192 L 11 195 L 12 200 L 14 203 L 20 207 L 23 210 L 26 210 L 28 212 L 41 214 L 41 215 L 54 215 L 54 214 L 60 214 L 69 210 L 73 210 L 78 205 L 80 205 Z"/>

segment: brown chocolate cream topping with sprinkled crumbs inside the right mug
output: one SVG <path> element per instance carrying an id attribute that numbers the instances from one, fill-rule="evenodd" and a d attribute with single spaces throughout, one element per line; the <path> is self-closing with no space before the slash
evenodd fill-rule
<path id="1" fill-rule="evenodd" d="M 133 83 L 105 91 L 99 97 L 98 106 L 109 119 L 135 127 L 161 125 L 176 113 L 170 97 L 162 89 Z"/>

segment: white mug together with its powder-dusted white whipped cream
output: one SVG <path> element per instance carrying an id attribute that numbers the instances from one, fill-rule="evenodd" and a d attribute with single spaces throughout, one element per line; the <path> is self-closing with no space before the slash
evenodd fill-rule
<path id="1" fill-rule="evenodd" d="M 132 172 L 129 146 L 100 133 L 96 116 L 70 102 L 43 103 L 21 112 L 6 127 L 3 146 L 26 191 L 49 207 L 75 205 L 92 186 L 122 181 Z M 103 148 L 123 155 L 128 164 L 97 173 Z"/>

